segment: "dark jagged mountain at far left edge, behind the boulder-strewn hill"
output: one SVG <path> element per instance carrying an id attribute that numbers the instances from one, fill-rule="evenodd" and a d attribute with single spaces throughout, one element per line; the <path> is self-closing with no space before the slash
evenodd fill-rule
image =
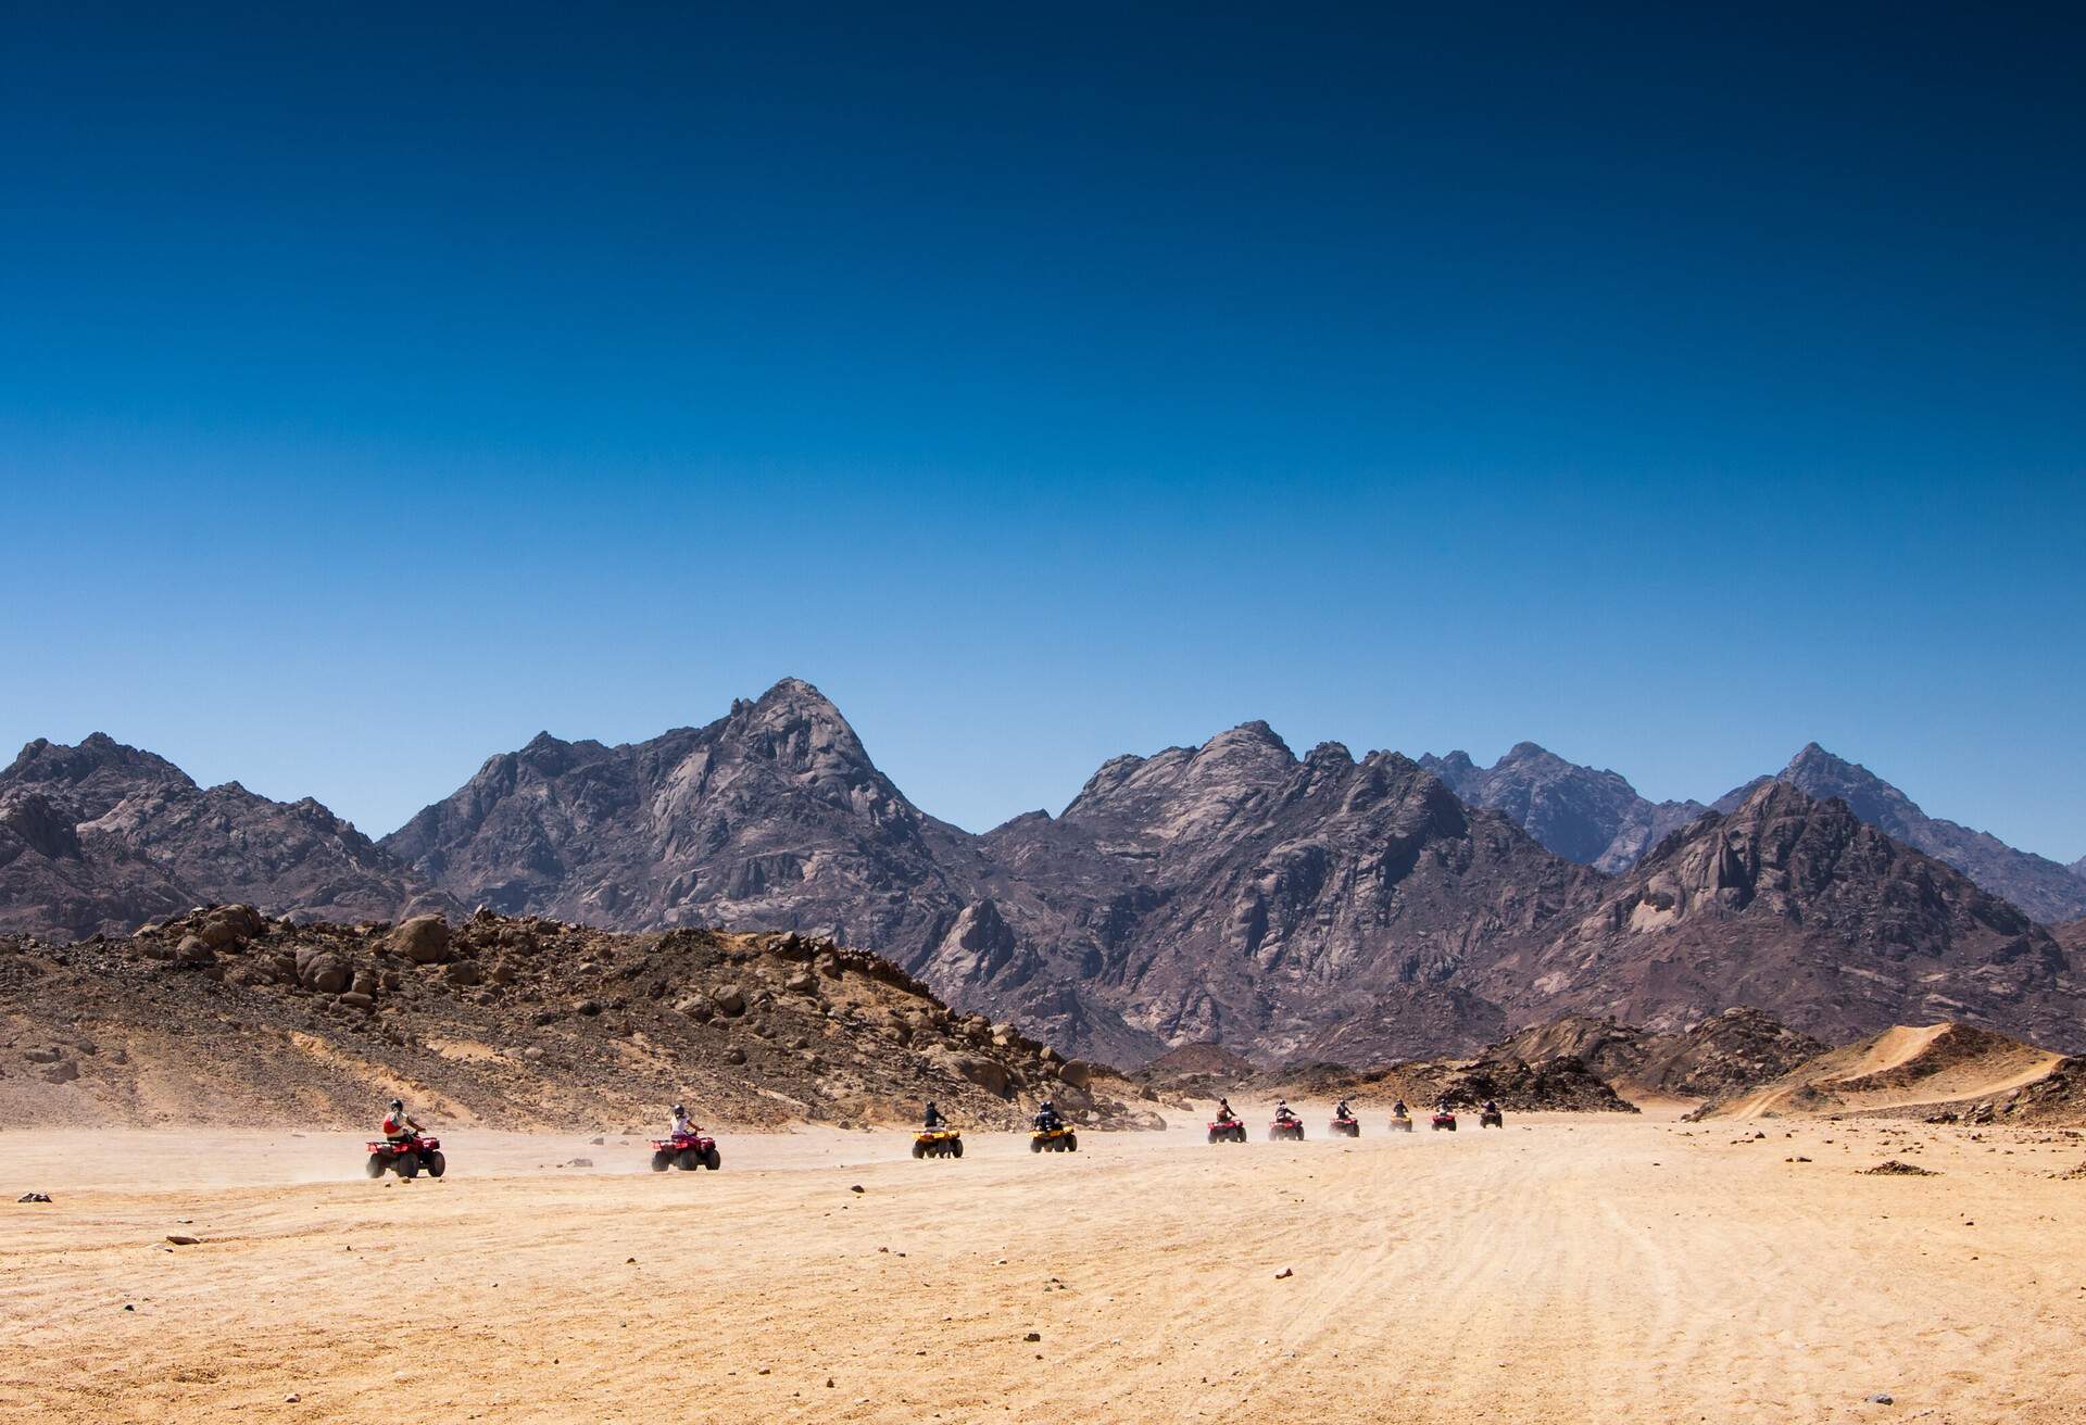
<path id="1" fill-rule="evenodd" d="M 123 935 L 198 901 L 344 922 L 455 910 L 317 801 L 198 787 L 100 732 L 40 739 L 0 772 L 0 931 Z"/>

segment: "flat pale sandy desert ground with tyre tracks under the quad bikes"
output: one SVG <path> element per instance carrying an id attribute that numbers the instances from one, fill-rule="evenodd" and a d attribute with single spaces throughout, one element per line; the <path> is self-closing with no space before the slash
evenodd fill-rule
<path id="1" fill-rule="evenodd" d="M 2086 1141 L 1323 1118 L 657 1177 L 459 1133 L 440 1183 L 348 1135 L 6 1133 L 0 1419 L 2086 1419 Z"/>

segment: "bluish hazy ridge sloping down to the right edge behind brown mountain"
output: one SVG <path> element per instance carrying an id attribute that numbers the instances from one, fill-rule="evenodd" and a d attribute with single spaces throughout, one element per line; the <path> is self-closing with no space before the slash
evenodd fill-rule
<path id="1" fill-rule="evenodd" d="M 1754 778 L 1725 793 L 1715 801 L 1715 807 L 1729 812 L 1763 780 L 1767 778 Z M 2086 916 L 2086 880 L 2073 874 L 2076 868 L 2017 851 L 1990 832 L 1927 816 L 1919 803 L 1869 768 L 1836 757 L 1817 743 L 1809 743 L 1796 753 L 1775 780 L 1802 787 L 1813 797 L 1838 797 L 1861 820 L 1909 847 L 1948 862 L 2042 924 Z"/>

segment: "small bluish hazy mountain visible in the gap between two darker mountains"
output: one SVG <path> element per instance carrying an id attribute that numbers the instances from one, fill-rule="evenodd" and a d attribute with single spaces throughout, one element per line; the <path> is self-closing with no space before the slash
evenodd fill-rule
<path id="1" fill-rule="evenodd" d="M 1648 801 L 1619 772 L 1564 762 L 1535 743 L 1479 768 L 1469 753 L 1425 755 L 1421 766 L 1473 807 L 1508 820 L 1569 862 L 1608 874 L 1629 870 L 1667 832 L 1696 820 L 1700 801 Z"/>

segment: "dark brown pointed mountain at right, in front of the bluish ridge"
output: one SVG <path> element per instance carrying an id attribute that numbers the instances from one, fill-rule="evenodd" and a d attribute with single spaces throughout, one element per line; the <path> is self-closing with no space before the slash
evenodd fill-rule
<path id="1" fill-rule="evenodd" d="M 1571 928 L 1475 989 L 1535 1018 L 1679 1029 L 1752 1006 L 1825 1037 L 1955 1018 L 2082 1043 L 2078 958 L 2013 903 L 1840 801 L 1765 782 L 1669 837 Z"/>

